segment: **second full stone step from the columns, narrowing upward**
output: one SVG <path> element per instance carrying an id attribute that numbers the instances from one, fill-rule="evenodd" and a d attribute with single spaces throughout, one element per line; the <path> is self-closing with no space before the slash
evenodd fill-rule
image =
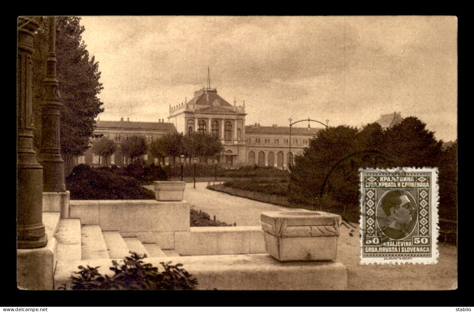
<path id="1" fill-rule="evenodd" d="M 82 225 L 82 259 L 110 259 L 100 225 Z"/>

